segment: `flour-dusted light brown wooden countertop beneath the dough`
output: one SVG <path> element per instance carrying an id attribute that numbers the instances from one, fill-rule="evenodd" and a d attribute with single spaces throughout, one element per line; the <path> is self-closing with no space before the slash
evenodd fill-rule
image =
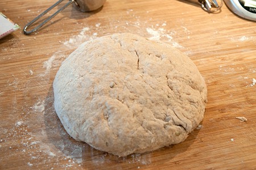
<path id="1" fill-rule="evenodd" d="M 0 11 L 23 28 L 55 2 L 1 1 Z M 199 68 L 207 110 L 201 129 L 183 143 L 117 157 L 65 132 L 52 106 L 57 69 L 82 42 L 115 32 L 173 44 Z M 20 29 L 0 40 L 0 169 L 254 169 L 253 78 L 256 24 L 225 5 L 218 14 L 187 1 L 107 0 L 93 13 L 69 6 L 36 34 Z"/>

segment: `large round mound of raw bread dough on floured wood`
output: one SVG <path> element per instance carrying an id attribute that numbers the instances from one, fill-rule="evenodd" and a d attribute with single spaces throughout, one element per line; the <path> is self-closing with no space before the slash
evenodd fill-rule
<path id="1" fill-rule="evenodd" d="M 189 57 L 126 33 L 81 44 L 61 65 L 53 90 L 68 134 L 118 156 L 182 142 L 203 120 L 207 102 Z"/>

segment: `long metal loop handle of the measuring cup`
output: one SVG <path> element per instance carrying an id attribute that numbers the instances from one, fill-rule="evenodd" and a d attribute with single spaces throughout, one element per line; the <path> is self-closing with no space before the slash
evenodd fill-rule
<path id="1" fill-rule="evenodd" d="M 38 26 L 36 26 L 34 29 L 32 29 L 31 31 L 27 31 L 27 28 L 29 26 L 31 26 L 32 23 L 36 22 L 36 20 L 38 20 L 39 18 L 41 18 L 43 15 L 45 15 L 46 13 L 48 13 L 50 10 L 52 10 L 54 7 L 56 7 L 57 5 L 59 5 L 61 2 L 63 2 L 64 0 L 59 0 L 58 2 L 56 2 L 55 4 L 53 4 L 51 7 L 49 7 L 47 10 L 45 10 L 42 14 L 36 16 L 35 19 L 31 20 L 31 22 L 29 22 L 28 24 L 26 24 L 26 26 L 23 28 L 23 32 L 24 34 L 28 35 L 31 34 L 32 32 L 37 31 L 40 27 L 42 27 L 44 24 L 46 24 L 49 20 L 51 20 L 54 16 L 56 16 L 57 14 L 59 14 L 61 11 L 63 11 L 66 7 L 68 7 L 69 5 L 71 5 L 71 3 L 75 2 L 75 0 L 69 0 L 68 3 L 66 3 L 63 7 L 61 7 L 59 10 L 57 10 L 54 14 L 52 14 L 51 16 L 49 16 L 47 19 L 45 19 L 42 23 L 40 23 Z"/>

